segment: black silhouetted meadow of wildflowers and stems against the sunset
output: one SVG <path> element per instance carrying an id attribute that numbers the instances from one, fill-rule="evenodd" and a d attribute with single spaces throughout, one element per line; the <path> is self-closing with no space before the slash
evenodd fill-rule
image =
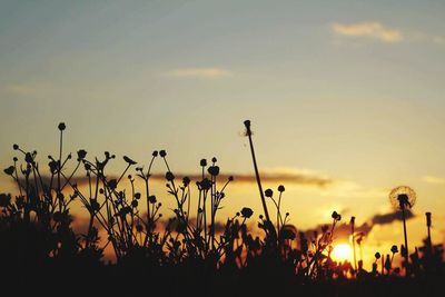
<path id="1" fill-rule="evenodd" d="M 250 122 L 245 125 L 253 149 Z M 397 242 L 386 255 L 376 253 L 367 271 L 362 259 L 337 263 L 330 256 L 336 226 L 344 220 L 340 214 L 333 211 L 332 224 L 320 232 L 300 232 L 281 209 L 285 186 L 263 190 L 258 172 L 264 214 L 246 206 L 230 218 L 219 218 L 221 206 L 230 204 L 227 191 L 234 178 L 220 180 L 216 158 L 200 160 L 200 178 L 190 180 L 175 176 L 165 150 L 154 151 L 147 166 L 123 156 L 125 170 L 115 177 L 107 172 L 115 155 L 89 158 L 85 149 L 67 155 L 65 123 L 58 129 L 59 154 L 48 156 L 48 168 L 37 151 L 13 145 L 17 156 L 4 169 L 17 192 L 0 194 L 3 288 L 47 295 L 435 296 L 444 279 L 443 246 L 433 245 L 429 236 L 411 255 Z M 172 210 L 162 210 L 162 201 L 150 191 L 155 161 L 165 165 L 166 199 L 175 201 Z M 69 164 L 73 169 L 68 171 Z M 78 177 L 87 187 L 77 185 Z M 144 187 L 136 186 L 137 179 Z M 73 204 L 88 215 L 85 232 L 72 228 Z M 225 221 L 222 228 L 218 221 Z M 355 249 L 362 236 L 354 221 L 350 218 Z M 248 222 L 260 232 L 249 230 Z M 431 224 L 426 214 L 427 230 Z M 103 259 L 106 247 L 112 248 L 116 261 Z M 395 257 L 403 258 L 402 267 L 394 264 Z"/>

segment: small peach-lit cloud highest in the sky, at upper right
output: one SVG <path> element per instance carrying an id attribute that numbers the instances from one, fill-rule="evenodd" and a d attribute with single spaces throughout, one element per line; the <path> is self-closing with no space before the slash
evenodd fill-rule
<path id="1" fill-rule="evenodd" d="M 404 39 L 399 30 L 385 28 L 379 22 L 334 23 L 332 28 L 335 33 L 346 37 L 373 38 L 383 42 L 400 42 Z"/>

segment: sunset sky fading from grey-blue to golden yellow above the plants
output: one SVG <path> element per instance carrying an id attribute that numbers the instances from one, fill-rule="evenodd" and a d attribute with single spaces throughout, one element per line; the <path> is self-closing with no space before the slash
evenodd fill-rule
<path id="1" fill-rule="evenodd" d="M 297 227 L 333 210 L 370 221 L 408 185 L 413 242 L 428 210 L 445 241 L 444 13 L 443 1 L 412 0 L 0 0 L 0 165 L 12 143 L 56 155 L 63 121 L 66 151 L 147 164 L 166 149 L 178 174 L 215 156 L 224 172 L 251 175 L 250 119 L 266 187 L 286 186 Z M 255 184 L 227 194 L 222 217 L 260 212 Z M 376 225 L 369 249 L 400 236 L 398 221 Z"/>

